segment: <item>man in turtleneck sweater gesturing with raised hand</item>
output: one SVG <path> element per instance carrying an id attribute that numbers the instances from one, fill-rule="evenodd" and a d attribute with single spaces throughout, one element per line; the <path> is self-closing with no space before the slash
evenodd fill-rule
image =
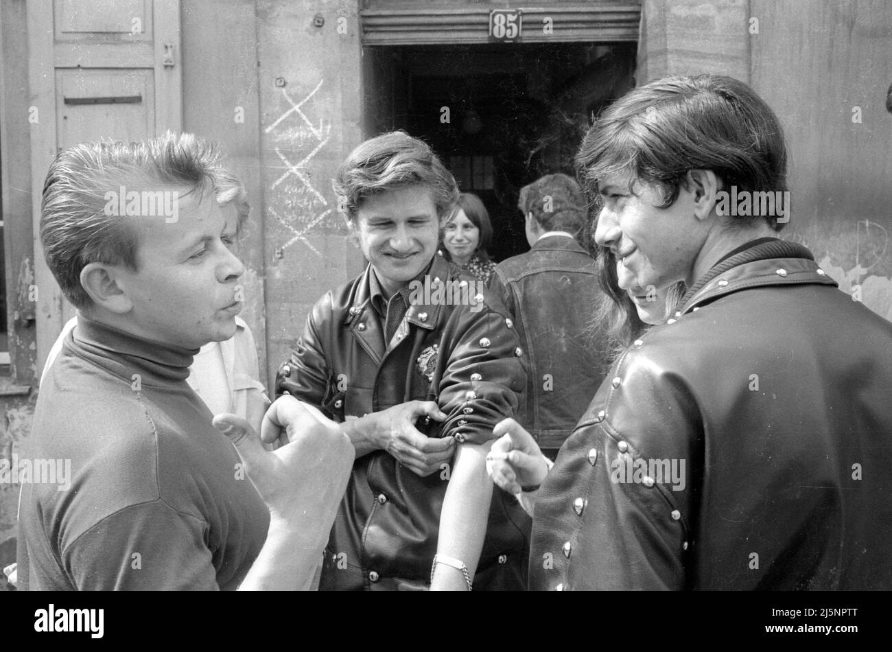
<path id="1" fill-rule="evenodd" d="M 22 589 L 312 580 L 349 440 L 285 397 L 264 428 L 287 426 L 292 442 L 270 453 L 244 419 L 217 417 L 229 438 L 215 429 L 186 384 L 194 355 L 232 337 L 242 308 L 237 220 L 215 198 L 218 170 L 211 145 L 172 134 L 78 144 L 50 168 L 41 241 L 78 326 L 41 386 L 26 454 L 70 460 L 71 477 L 68 491 L 22 484 Z"/>

